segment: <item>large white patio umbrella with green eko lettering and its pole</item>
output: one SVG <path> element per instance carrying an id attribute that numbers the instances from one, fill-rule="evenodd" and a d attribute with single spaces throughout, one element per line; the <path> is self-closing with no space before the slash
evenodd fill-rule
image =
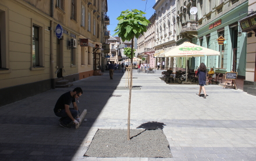
<path id="1" fill-rule="evenodd" d="M 165 57 L 186 57 L 186 82 L 187 82 L 187 57 L 201 57 L 201 56 L 219 56 L 219 52 L 195 45 L 194 43 L 184 42 L 173 49 L 170 49 L 162 54 Z"/>

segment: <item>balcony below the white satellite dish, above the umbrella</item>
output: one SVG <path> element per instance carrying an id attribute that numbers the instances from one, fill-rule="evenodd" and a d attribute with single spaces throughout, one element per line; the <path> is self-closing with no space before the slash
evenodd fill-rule
<path id="1" fill-rule="evenodd" d="M 187 39 L 197 37 L 198 21 L 187 21 L 182 24 L 182 31 L 180 34 L 184 35 Z"/>

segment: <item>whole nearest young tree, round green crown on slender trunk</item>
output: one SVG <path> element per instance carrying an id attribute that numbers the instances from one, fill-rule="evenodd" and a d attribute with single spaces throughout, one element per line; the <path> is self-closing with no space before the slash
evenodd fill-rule
<path id="1" fill-rule="evenodd" d="M 118 26 L 114 31 L 116 33 L 114 35 L 118 35 L 119 38 L 122 39 L 122 41 L 130 41 L 131 40 L 131 56 L 133 56 L 133 41 L 134 36 L 138 38 L 140 34 L 143 34 L 145 31 L 147 31 L 147 26 L 150 23 L 146 19 L 146 17 L 143 16 L 145 14 L 141 10 L 132 9 L 131 11 L 125 10 L 122 11 L 120 16 L 117 18 L 119 20 Z M 113 35 L 113 36 L 114 36 Z M 130 57 L 131 64 L 133 64 L 133 57 Z M 132 65 L 130 67 L 130 82 L 129 82 L 129 105 L 128 105 L 128 123 L 127 123 L 127 140 L 130 140 L 130 108 L 131 108 L 131 85 L 132 85 L 132 78 L 133 78 L 133 72 L 132 72 Z"/>

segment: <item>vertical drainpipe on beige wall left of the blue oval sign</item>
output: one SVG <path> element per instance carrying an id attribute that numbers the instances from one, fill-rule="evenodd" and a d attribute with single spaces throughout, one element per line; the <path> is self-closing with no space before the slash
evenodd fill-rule
<path id="1" fill-rule="evenodd" d="M 54 0 L 51 0 L 51 31 L 50 31 L 50 68 L 51 68 L 51 85 L 55 89 L 55 73 L 54 73 Z"/>

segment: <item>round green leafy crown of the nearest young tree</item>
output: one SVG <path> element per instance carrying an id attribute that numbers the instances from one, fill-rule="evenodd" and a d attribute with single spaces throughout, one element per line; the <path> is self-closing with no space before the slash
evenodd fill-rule
<path id="1" fill-rule="evenodd" d="M 122 41 L 130 41 L 134 36 L 138 38 L 140 34 L 147 31 L 147 25 L 150 23 L 143 14 L 145 13 L 137 9 L 132 9 L 131 12 L 129 10 L 122 11 L 117 18 L 119 22 L 114 30 L 117 31 L 114 35 L 118 35 Z"/>

